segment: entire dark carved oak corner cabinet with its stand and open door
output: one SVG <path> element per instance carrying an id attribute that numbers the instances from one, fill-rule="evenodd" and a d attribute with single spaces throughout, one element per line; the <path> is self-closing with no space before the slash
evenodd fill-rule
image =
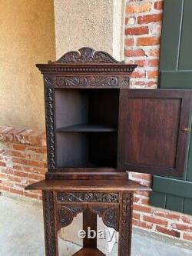
<path id="1" fill-rule="evenodd" d="M 83 212 L 119 231 L 118 255 L 131 255 L 134 191 L 150 191 L 126 171 L 182 176 L 190 134 L 190 90 L 129 88 L 136 65 L 81 48 L 38 64 L 44 75 L 48 172 L 27 189 L 43 192 L 45 251 L 58 256 L 57 233 Z M 76 256 L 104 255 L 84 238 Z"/>

